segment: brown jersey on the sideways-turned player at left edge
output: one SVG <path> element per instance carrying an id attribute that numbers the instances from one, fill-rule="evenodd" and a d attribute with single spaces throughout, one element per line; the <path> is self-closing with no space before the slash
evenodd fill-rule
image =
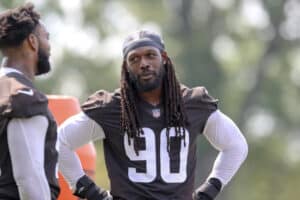
<path id="1" fill-rule="evenodd" d="M 20 199 L 12 173 L 7 125 L 12 118 L 29 118 L 35 115 L 43 115 L 49 121 L 45 138 L 44 169 L 51 199 L 55 200 L 58 197 L 60 191 L 56 176 L 58 152 L 55 148 L 57 126 L 48 110 L 47 97 L 23 75 L 9 73 L 0 77 L 0 199 Z"/>

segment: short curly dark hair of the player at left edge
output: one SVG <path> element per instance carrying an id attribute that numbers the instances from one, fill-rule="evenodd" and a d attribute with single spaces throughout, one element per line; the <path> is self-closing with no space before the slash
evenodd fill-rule
<path id="1" fill-rule="evenodd" d="M 32 3 L 0 14 L 0 49 L 19 46 L 39 24 L 40 15 Z"/>

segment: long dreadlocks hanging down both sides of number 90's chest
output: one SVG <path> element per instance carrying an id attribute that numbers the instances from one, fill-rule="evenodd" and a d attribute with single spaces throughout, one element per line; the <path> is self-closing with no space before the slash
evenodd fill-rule
<path id="1" fill-rule="evenodd" d="M 185 142 L 185 127 L 187 125 L 186 114 L 183 106 L 180 84 L 177 80 L 171 59 L 167 57 L 163 65 L 165 77 L 163 80 L 163 103 L 165 110 L 165 123 L 167 125 L 167 144 L 170 153 L 170 129 L 175 128 L 176 137 Z M 122 133 L 127 133 L 128 143 L 134 141 L 134 150 L 138 155 L 139 143 L 136 138 L 143 134 L 140 126 L 139 113 L 136 107 L 136 90 L 130 81 L 126 61 L 123 61 L 121 72 L 121 128 Z"/>

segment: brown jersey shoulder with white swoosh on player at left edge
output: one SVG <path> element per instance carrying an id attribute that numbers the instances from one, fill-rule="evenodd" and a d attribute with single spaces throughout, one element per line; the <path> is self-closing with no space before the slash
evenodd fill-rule
<path id="1" fill-rule="evenodd" d="M 46 96 L 17 78 L 0 78 L 0 113 L 11 117 L 31 117 L 47 109 Z"/>

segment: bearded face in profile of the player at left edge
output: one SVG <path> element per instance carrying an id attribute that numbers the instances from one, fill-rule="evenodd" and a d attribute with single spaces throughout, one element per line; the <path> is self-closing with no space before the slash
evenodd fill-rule
<path id="1" fill-rule="evenodd" d="M 49 33 L 47 32 L 44 25 L 38 25 L 36 29 L 36 33 L 39 41 L 36 75 L 40 75 L 49 72 L 51 69 L 51 65 L 49 62 L 50 43 L 49 43 Z"/>

